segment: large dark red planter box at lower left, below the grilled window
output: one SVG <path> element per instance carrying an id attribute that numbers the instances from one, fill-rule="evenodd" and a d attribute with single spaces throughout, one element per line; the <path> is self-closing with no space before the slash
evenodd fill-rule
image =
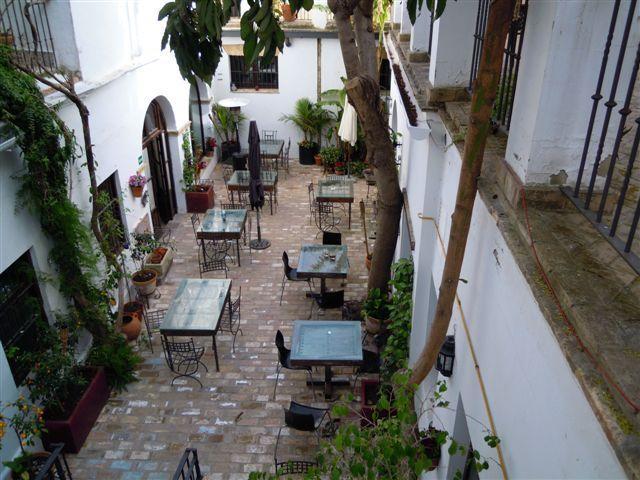
<path id="1" fill-rule="evenodd" d="M 52 443 L 64 443 L 65 452 L 78 453 L 96 423 L 102 407 L 109 400 L 109 385 L 104 368 L 89 367 L 88 370 L 94 372 L 94 375 L 69 418 L 45 420 L 44 428 L 47 433 L 42 435 L 42 442 L 46 449 L 49 449 Z"/>

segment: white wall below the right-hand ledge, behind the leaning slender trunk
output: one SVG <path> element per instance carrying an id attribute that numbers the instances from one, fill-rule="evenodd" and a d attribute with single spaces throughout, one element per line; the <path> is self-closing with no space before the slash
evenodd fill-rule
<path id="1" fill-rule="evenodd" d="M 392 97 L 400 101 L 393 87 Z M 430 119 L 437 120 L 437 114 Z M 401 117 L 397 121 L 401 123 Z M 447 133 L 447 143 L 450 138 Z M 403 158 L 402 168 L 410 169 L 405 178 L 417 243 L 410 341 L 410 360 L 415 361 L 426 340 L 444 267 L 435 224 L 421 220 L 418 214 L 435 217 L 446 243 L 461 158 L 457 147 L 445 150 L 434 137 L 418 142 L 404 138 L 403 142 L 411 144 L 409 158 Z M 461 277 L 468 282 L 459 286 L 462 308 L 509 476 L 624 478 L 624 471 L 526 279 L 480 197 L 474 208 Z M 489 425 L 457 307 L 449 333 L 454 331 L 456 359 L 453 376 L 448 380 L 447 398 L 455 409 L 460 394 L 467 415 Z M 435 380 L 432 372 L 421 385 L 420 394 L 424 396 Z M 454 419 L 454 412 L 441 410 L 437 418 L 423 418 L 423 427 L 433 420 L 434 426 L 453 432 Z M 468 424 L 474 447 L 483 455 L 497 458 L 495 450 L 483 441 L 486 435 L 483 427 L 473 420 L 468 420 Z M 426 477 L 446 478 L 448 462 L 443 451 L 441 466 Z M 499 467 L 492 464 L 481 476 L 500 475 Z"/>

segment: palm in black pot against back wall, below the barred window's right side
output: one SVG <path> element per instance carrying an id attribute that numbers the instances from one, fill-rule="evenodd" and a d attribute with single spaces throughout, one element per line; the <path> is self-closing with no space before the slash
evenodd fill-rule
<path id="1" fill-rule="evenodd" d="M 298 156 L 301 165 L 314 165 L 314 155 L 318 153 L 318 142 L 322 131 L 333 120 L 333 115 L 319 103 L 313 103 L 308 98 L 296 101 L 294 112 L 280 117 L 281 121 L 295 125 L 303 135 L 298 143 Z"/>

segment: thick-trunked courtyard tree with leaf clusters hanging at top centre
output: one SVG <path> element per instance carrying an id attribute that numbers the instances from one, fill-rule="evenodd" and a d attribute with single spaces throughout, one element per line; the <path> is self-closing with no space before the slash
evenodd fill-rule
<path id="1" fill-rule="evenodd" d="M 388 9 L 389 0 L 380 9 Z M 329 0 L 347 73 L 346 90 L 365 136 L 367 160 L 378 184 L 378 229 L 369 275 L 369 289 L 387 290 L 396 247 L 402 194 L 389 136 L 387 116 L 380 100 L 374 21 L 374 0 Z M 293 12 L 310 10 L 313 0 L 289 0 Z M 222 56 L 222 27 L 231 17 L 233 0 L 175 0 L 160 11 L 166 18 L 162 47 L 174 51 L 182 76 L 194 83 L 211 83 Z M 248 0 L 240 20 L 240 36 L 247 65 L 269 65 L 284 50 L 285 34 L 273 0 Z"/>

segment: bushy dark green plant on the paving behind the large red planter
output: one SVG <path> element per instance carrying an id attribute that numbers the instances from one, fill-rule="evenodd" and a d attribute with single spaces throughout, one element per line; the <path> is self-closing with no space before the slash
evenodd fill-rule
<path id="1" fill-rule="evenodd" d="M 109 386 L 120 392 L 126 390 L 129 383 L 138 381 L 135 370 L 142 358 L 129 348 L 124 338 L 119 337 L 118 341 L 93 347 L 88 361 L 104 366 Z"/>

